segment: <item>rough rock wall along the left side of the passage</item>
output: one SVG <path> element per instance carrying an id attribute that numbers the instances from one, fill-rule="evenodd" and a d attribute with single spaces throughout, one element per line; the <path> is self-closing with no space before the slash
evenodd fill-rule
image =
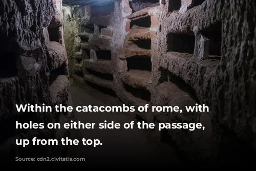
<path id="1" fill-rule="evenodd" d="M 0 158 L 58 158 L 61 146 L 16 145 L 16 139 L 60 139 L 67 130 L 15 129 L 19 123 L 69 121 L 72 113 L 20 112 L 16 104 L 72 105 L 61 0 L 0 1 Z M 31 157 L 31 158 L 30 158 Z"/>

